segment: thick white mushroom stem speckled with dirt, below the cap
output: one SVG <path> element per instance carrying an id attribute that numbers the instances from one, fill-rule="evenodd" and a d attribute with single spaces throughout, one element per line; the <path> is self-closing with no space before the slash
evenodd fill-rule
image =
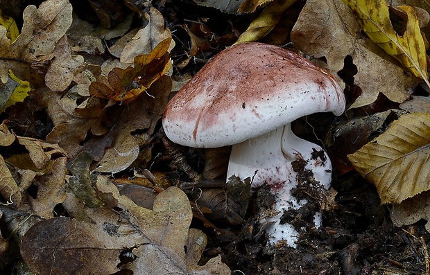
<path id="1" fill-rule="evenodd" d="M 303 164 L 303 170 L 310 170 L 311 173 L 296 172 L 293 161 L 299 161 Z M 291 224 L 279 224 L 279 220 L 284 211 L 299 209 L 307 204 L 307 200 L 291 195 L 291 190 L 298 185 L 298 181 L 303 181 L 305 174 L 313 176 L 305 181 L 327 189 L 332 179 L 332 164 L 320 146 L 295 136 L 291 125 L 232 147 L 227 178 L 232 175 L 242 180 L 250 177 L 253 189 L 266 184 L 275 195 L 273 209 L 260 218 L 261 224 L 272 224 L 266 228 L 270 245 L 284 240 L 289 247 L 295 247 L 298 231 Z"/>

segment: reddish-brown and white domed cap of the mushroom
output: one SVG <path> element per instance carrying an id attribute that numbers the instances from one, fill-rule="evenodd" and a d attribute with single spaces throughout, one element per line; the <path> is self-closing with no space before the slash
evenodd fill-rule
<path id="1" fill-rule="evenodd" d="M 221 51 L 166 106 L 166 136 L 181 145 L 217 148 L 261 136 L 301 116 L 340 115 L 336 78 L 292 51 L 263 43 Z"/>

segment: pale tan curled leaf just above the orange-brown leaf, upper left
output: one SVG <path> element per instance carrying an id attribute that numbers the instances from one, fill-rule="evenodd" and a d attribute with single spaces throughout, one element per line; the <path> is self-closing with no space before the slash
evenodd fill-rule
<path id="1" fill-rule="evenodd" d="M 151 7 L 150 12 L 144 15 L 148 24 L 137 31 L 135 37 L 123 47 L 121 62 L 133 63 L 138 55 L 149 55 L 160 43 L 169 39 L 166 49 L 170 53 L 175 46 L 172 35 L 168 28 L 164 28 L 164 18 L 162 14 Z"/>

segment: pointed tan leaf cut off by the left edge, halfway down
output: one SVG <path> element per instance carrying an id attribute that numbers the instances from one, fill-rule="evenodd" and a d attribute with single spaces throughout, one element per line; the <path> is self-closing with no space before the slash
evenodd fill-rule
<path id="1" fill-rule="evenodd" d="M 6 166 L 6 162 L 3 157 L 0 155 L 0 195 L 6 202 L 4 204 L 12 204 L 15 207 L 18 207 L 21 203 L 21 190 L 15 179 L 13 179 L 12 174 L 8 166 Z"/>

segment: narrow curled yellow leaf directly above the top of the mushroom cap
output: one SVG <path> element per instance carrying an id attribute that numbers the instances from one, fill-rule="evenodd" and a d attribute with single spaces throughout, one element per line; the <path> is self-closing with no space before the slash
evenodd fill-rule
<path id="1" fill-rule="evenodd" d="M 257 41 L 270 33 L 281 19 L 284 11 L 289 8 L 296 0 L 273 1 L 261 12 L 259 17 L 251 22 L 244 33 L 239 36 L 236 43 Z"/>

